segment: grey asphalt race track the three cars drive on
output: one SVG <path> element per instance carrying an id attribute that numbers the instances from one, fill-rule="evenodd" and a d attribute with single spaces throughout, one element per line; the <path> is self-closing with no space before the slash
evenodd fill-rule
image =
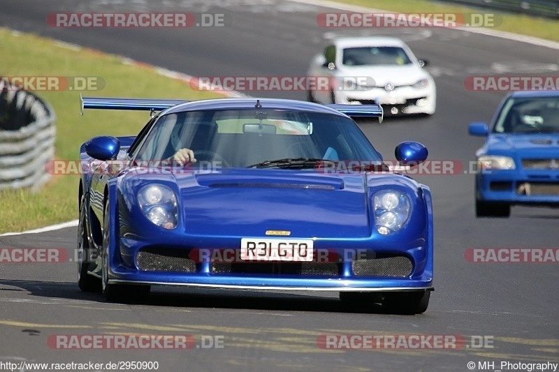
<path id="1" fill-rule="evenodd" d="M 469 248 L 559 248 L 559 209 L 514 207 L 507 219 L 475 218 L 474 176 L 468 170 L 482 141 L 467 135 L 467 124 L 490 121 L 504 92 L 467 91 L 463 85 L 471 75 L 556 76 L 557 49 L 458 29 L 329 30 L 316 22 L 328 8 L 290 1 L 3 0 L 0 9 L 2 27 L 194 76 L 300 76 L 325 36 L 399 36 L 430 61 L 437 112 L 388 118 L 384 124 L 361 122 L 361 128 L 387 159 L 399 142 L 416 140 L 426 144 L 431 160 L 456 165 L 453 174 L 416 177 L 433 191 L 435 209 L 435 292 L 422 315 L 389 315 L 380 306 L 352 308 L 337 293 L 153 288 L 145 304 L 108 304 L 100 294 L 78 289 L 77 229 L 64 228 L 0 237 L 0 248 L 68 252 L 64 262 L 0 266 L 0 362 L 152 361 L 159 371 L 512 371 L 501 362 L 559 363 L 559 263 L 465 259 Z M 57 29 L 45 22 L 55 12 L 155 11 L 222 13 L 225 27 Z M 243 93 L 305 99 L 304 91 Z M 133 87 L 122 96 L 134 97 Z M 78 108 L 68 107 L 76 112 L 77 126 Z M 68 350 L 52 342 L 84 334 L 178 334 L 194 336 L 195 345 L 189 350 Z M 450 335 L 465 345 L 346 350 L 317 343 L 324 335 L 354 334 Z M 474 362 L 473 369 L 468 362 Z"/>

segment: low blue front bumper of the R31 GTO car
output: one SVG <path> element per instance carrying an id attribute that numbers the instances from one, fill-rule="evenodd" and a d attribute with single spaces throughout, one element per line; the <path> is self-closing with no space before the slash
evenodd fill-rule
<path id="1" fill-rule="evenodd" d="M 131 239 L 120 239 L 119 244 L 118 254 L 112 260 L 114 265 L 109 269 L 109 283 L 358 292 L 426 290 L 432 288 L 433 283 L 433 250 L 426 246 L 406 251 L 377 251 L 378 254 L 368 251 L 365 255 L 380 262 L 368 269 L 366 260 L 361 260 L 364 255 L 359 259 L 350 257 L 356 252 L 353 249 L 329 249 L 336 253 L 337 260 L 326 263 L 244 263 L 236 260 L 216 263 L 192 260 L 195 248 L 145 246 Z M 170 263 L 166 267 L 165 260 L 161 259 L 154 265 L 146 265 L 145 259 L 138 255 L 160 252 L 168 257 L 170 251 L 174 251 L 175 256 L 166 262 L 172 262 L 172 267 Z"/>

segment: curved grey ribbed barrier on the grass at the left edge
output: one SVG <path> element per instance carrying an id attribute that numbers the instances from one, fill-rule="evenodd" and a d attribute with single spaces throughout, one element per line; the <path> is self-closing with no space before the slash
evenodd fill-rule
<path id="1" fill-rule="evenodd" d="M 38 191 L 50 179 L 56 116 L 38 96 L 0 83 L 0 189 Z"/>

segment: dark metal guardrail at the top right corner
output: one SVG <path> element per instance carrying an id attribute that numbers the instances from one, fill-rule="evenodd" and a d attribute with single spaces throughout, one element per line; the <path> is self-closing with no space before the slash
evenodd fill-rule
<path id="1" fill-rule="evenodd" d="M 559 0 L 442 0 L 559 19 Z"/>

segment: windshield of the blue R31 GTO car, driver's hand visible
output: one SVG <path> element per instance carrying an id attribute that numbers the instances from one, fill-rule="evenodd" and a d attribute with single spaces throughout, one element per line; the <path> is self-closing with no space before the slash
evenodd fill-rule
<path id="1" fill-rule="evenodd" d="M 297 110 L 201 110 L 160 117 L 140 144 L 136 160 L 172 158 L 178 149 L 224 168 L 312 168 L 312 161 L 382 163 L 358 126 L 347 117 Z M 304 166 L 303 166 L 304 165 Z"/>

